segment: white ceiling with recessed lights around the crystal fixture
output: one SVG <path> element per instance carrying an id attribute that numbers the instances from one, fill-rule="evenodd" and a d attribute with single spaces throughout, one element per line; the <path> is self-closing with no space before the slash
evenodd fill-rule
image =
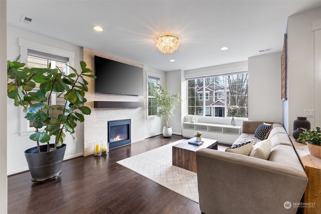
<path id="1" fill-rule="evenodd" d="M 280 52 L 287 18 L 317 7 L 321 1 L 7 0 L 7 16 L 11 26 L 173 71 Z M 22 17 L 32 24 L 22 23 Z M 94 32 L 94 25 L 104 31 Z M 154 46 L 165 34 L 181 39 L 174 54 L 162 54 Z M 222 46 L 229 50 L 221 51 Z"/>

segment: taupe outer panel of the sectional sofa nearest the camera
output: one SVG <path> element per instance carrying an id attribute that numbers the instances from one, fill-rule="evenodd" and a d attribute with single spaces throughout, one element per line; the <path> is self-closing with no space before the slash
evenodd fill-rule
<path id="1" fill-rule="evenodd" d="M 307 184 L 302 171 L 213 149 L 196 151 L 200 208 L 209 213 L 295 213 Z"/>

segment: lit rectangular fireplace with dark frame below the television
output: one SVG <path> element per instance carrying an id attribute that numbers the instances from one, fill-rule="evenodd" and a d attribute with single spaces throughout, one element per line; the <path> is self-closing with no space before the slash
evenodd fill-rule
<path id="1" fill-rule="evenodd" d="M 129 144 L 131 119 L 108 121 L 109 148 Z"/>

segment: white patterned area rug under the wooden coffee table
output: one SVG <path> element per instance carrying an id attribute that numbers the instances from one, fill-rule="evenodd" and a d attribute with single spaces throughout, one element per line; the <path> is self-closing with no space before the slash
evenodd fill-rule
<path id="1" fill-rule="evenodd" d="M 197 174 L 172 165 L 172 146 L 185 140 L 175 141 L 117 163 L 198 203 Z"/>

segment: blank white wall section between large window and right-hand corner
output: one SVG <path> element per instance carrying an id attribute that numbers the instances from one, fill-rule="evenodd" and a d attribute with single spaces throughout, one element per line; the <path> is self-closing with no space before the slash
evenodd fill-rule
<path id="1" fill-rule="evenodd" d="M 249 120 L 283 121 L 281 53 L 248 58 Z"/>

